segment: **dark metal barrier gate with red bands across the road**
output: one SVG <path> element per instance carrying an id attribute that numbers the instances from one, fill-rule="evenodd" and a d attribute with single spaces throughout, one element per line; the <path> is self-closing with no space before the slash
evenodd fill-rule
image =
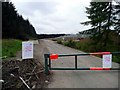
<path id="1" fill-rule="evenodd" d="M 106 55 L 106 54 L 120 54 L 120 52 L 96 52 L 96 53 L 82 53 L 82 54 L 44 54 L 45 58 L 45 74 L 49 74 L 49 70 L 120 70 L 120 68 L 78 68 L 77 67 L 77 56 L 86 55 Z M 51 59 L 58 59 L 58 57 L 75 56 L 75 68 L 52 68 Z"/>

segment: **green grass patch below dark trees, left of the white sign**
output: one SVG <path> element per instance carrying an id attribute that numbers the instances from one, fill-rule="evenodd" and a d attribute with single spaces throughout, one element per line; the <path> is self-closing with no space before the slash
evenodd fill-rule
<path id="1" fill-rule="evenodd" d="M 15 57 L 16 53 L 22 48 L 22 41 L 16 39 L 2 40 L 2 57 Z"/>

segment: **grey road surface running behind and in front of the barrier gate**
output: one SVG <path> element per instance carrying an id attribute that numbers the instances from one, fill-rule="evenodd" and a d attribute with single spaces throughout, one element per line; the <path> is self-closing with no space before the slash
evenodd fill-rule
<path id="1" fill-rule="evenodd" d="M 73 54 L 81 51 L 42 40 L 50 53 Z M 44 48 L 45 50 L 45 48 Z M 74 67 L 74 57 L 52 61 L 52 67 Z M 102 67 L 102 60 L 94 56 L 78 57 L 78 67 Z M 119 67 L 112 63 L 112 67 Z M 118 88 L 118 71 L 52 71 L 53 78 L 48 88 Z"/>

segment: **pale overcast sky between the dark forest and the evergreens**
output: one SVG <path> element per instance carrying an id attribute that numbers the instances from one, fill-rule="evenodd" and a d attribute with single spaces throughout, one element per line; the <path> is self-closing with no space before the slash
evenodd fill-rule
<path id="1" fill-rule="evenodd" d="M 85 7 L 90 0 L 12 0 L 16 10 L 29 19 L 37 34 L 76 34 L 88 29 Z"/>

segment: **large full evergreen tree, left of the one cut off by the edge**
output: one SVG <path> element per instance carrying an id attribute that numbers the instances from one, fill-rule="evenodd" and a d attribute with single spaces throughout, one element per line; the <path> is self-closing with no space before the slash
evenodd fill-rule
<path id="1" fill-rule="evenodd" d="M 90 2 L 90 7 L 86 7 L 86 13 L 90 21 L 81 24 L 91 25 L 89 29 L 94 35 L 95 43 L 107 46 L 107 40 L 111 26 L 113 26 L 114 8 L 112 2 Z"/>

